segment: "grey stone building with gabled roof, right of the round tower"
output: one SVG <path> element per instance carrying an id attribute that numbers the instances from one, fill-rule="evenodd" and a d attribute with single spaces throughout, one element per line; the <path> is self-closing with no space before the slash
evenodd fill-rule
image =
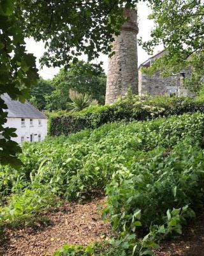
<path id="1" fill-rule="evenodd" d="M 170 77 L 161 77 L 159 72 L 152 77 L 142 72 L 143 67 L 150 67 L 157 59 L 167 54 L 166 51 L 158 52 L 142 63 L 138 68 L 138 94 L 150 96 L 169 95 L 172 96 L 193 96 L 193 93 L 184 88 L 183 82 L 186 77 L 191 76 L 190 70 L 182 70 L 179 74 L 172 74 Z"/>

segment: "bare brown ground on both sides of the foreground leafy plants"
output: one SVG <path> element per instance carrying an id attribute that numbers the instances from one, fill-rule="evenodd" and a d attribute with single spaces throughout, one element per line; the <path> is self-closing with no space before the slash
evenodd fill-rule
<path id="1" fill-rule="evenodd" d="M 85 204 L 64 204 L 59 211 L 47 215 L 48 226 L 6 229 L 4 242 L 0 243 L 0 256 L 52 255 L 65 244 L 85 246 L 108 239 L 112 234 L 110 224 L 103 223 L 98 211 L 98 205 L 104 204 L 104 198 L 94 198 Z M 204 212 L 192 223 L 184 228 L 181 237 L 164 241 L 156 255 L 204 256 Z"/>

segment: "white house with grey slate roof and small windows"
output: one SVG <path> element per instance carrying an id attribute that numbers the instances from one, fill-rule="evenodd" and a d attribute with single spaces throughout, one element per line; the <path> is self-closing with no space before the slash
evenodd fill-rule
<path id="1" fill-rule="evenodd" d="M 24 141 L 42 141 L 47 136 L 47 116 L 34 108 L 29 102 L 25 104 L 18 100 L 11 100 L 8 94 L 1 95 L 8 109 L 7 122 L 4 127 L 16 128 L 17 137 L 12 140 L 17 143 Z"/>

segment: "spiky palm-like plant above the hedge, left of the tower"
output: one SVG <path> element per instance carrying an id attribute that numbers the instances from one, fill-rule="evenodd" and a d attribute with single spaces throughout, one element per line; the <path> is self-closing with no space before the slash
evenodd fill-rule
<path id="1" fill-rule="evenodd" d="M 79 93 L 71 89 L 69 90 L 69 99 L 71 99 L 71 102 L 67 106 L 73 112 L 98 104 L 98 101 L 93 99 L 88 93 Z"/>

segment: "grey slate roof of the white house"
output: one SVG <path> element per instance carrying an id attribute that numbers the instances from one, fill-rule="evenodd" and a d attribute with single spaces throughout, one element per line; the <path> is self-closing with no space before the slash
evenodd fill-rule
<path id="1" fill-rule="evenodd" d="M 46 115 L 34 108 L 27 100 L 25 104 L 22 104 L 18 100 L 11 100 L 7 93 L 1 95 L 1 99 L 4 100 L 8 108 L 4 109 L 5 112 L 8 112 L 8 117 L 47 118 Z"/>

